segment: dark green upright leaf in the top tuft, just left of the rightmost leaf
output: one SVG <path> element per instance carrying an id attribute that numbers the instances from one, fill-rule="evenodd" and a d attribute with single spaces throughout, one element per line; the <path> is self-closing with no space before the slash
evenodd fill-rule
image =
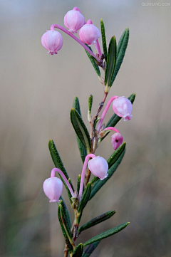
<path id="1" fill-rule="evenodd" d="M 116 63 L 116 41 L 115 36 L 110 39 L 109 48 L 108 48 L 108 56 L 106 62 L 106 69 L 105 69 L 105 86 L 111 86 L 111 81 L 113 78 L 113 73 L 115 70 L 115 63 Z"/>

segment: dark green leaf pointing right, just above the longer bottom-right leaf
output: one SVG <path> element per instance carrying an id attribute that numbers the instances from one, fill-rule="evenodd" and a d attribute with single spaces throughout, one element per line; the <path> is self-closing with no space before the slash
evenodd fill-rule
<path id="1" fill-rule="evenodd" d="M 94 219 L 91 219 L 86 224 L 83 224 L 82 226 L 80 226 L 80 228 L 78 229 L 78 234 L 80 234 L 82 231 L 84 231 L 86 229 L 89 229 L 92 226 L 95 226 L 95 225 L 109 219 L 114 214 L 115 214 L 115 211 L 108 211 L 108 212 L 105 212 L 105 214 L 101 214 L 100 216 L 97 216 Z"/>

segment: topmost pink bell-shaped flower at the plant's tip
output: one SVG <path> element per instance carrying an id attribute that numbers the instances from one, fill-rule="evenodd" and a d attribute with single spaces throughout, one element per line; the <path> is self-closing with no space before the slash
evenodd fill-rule
<path id="1" fill-rule="evenodd" d="M 85 19 L 81 11 L 78 7 L 74 7 L 73 10 L 68 11 L 64 16 L 64 25 L 66 28 L 69 28 L 71 33 L 77 33 L 78 29 L 80 29 L 84 23 Z"/>

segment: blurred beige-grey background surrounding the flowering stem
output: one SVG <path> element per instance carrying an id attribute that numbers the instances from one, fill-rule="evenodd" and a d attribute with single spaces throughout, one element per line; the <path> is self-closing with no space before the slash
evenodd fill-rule
<path id="1" fill-rule="evenodd" d="M 69 117 L 73 99 L 78 96 L 89 127 L 88 95 L 94 97 L 93 112 L 103 95 L 85 51 L 72 38 L 62 33 L 58 56 L 41 46 L 42 34 L 53 23 L 63 26 L 74 6 L 98 28 L 103 19 L 108 42 L 113 35 L 119 41 L 130 28 L 108 99 L 137 95 L 133 119 L 117 125 L 127 142 L 123 162 L 88 203 L 81 224 L 105 211 L 118 212 L 78 241 L 130 221 L 128 228 L 101 241 L 92 257 L 170 257 L 171 6 L 145 6 L 140 0 L 0 1 L 0 256 L 63 256 L 57 204 L 48 204 L 42 190 L 53 168 L 48 140 L 53 138 L 76 186 L 82 162 Z M 112 108 L 105 122 L 111 115 Z M 110 136 L 96 152 L 106 159 L 113 152 Z M 69 206 L 65 189 L 63 197 Z"/>

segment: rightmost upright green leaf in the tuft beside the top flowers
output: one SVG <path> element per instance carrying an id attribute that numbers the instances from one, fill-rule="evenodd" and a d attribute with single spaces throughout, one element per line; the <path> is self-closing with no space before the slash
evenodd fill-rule
<path id="1" fill-rule="evenodd" d="M 116 64 L 115 64 L 115 70 L 114 70 L 114 73 L 113 73 L 113 78 L 111 80 L 111 85 L 113 84 L 113 82 L 115 80 L 115 77 L 118 74 L 118 71 L 120 69 L 120 65 L 123 63 L 123 58 L 125 56 L 125 51 L 126 51 L 126 48 L 128 46 L 128 40 L 129 40 L 129 28 L 126 28 L 125 31 L 123 32 L 123 35 L 120 38 L 119 43 L 118 43 L 117 59 L 116 59 Z"/>

